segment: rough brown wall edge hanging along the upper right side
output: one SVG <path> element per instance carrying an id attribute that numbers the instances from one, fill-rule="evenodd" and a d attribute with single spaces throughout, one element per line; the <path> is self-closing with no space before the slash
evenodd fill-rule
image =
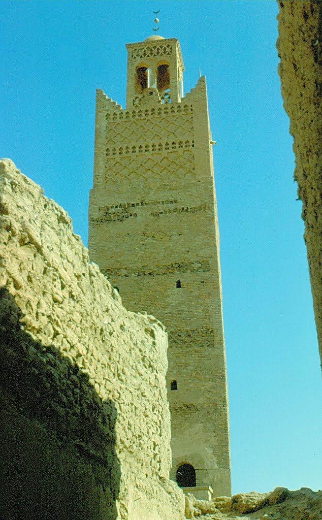
<path id="1" fill-rule="evenodd" d="M 294 138 L 294 178 L 322 361 L 322 3 L 278 2 L 278 72 Z"/>

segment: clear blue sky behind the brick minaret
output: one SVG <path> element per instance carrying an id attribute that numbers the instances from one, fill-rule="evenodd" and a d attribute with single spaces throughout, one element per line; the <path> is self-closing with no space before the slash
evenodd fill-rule
<path id="1" fill-rule="evenodd" d="M 124 107 L 125 43 L 176 37 L 207 77 L 221 237 L 233 492 L 321 485 L 321 378 L 277 75 L 277 3 L 2 0 L 0 157 L 87 243 L 95 88 Z"/>

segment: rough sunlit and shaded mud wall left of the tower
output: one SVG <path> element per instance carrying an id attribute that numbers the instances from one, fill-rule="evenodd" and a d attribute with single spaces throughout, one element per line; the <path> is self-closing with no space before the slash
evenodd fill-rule
<path id="1" fill-rule="evenodd" d="M 71 221 L 0 162 L 0 516 L 182 518 L 166 333 L 126 311 Z"/>

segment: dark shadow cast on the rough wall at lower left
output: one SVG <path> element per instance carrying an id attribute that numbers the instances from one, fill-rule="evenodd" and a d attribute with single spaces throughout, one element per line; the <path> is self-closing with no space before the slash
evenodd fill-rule
<path id="1" fill-rule="evenodd" d="M 115 520 L 117 410 L 53 346 L 35 341 L 0 289 L 0 518 Z"/>

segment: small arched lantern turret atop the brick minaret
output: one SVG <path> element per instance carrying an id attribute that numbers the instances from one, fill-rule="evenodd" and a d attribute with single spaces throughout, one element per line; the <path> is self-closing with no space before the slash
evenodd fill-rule
<path id="1" fill-rule="evenodd" d="M 184 64 L 176 38 L 154 34 L 126 48 L 126 108 L 144 103 L 153 94 L 159 102 L 181 101 Z"/>

